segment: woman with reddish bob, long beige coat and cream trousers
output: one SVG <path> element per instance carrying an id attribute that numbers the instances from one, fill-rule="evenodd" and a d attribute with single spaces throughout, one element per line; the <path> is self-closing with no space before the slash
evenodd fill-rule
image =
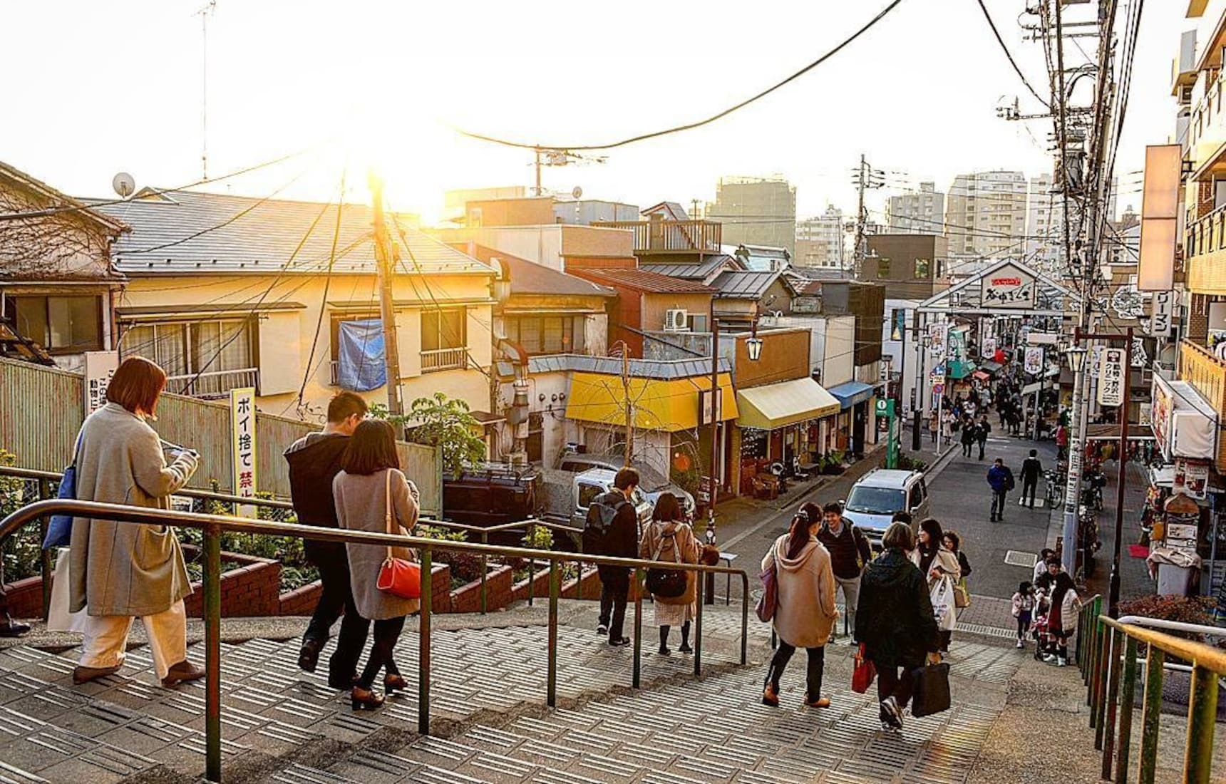
<path id="1" fill-rule="evenodd" d="M 166 371 L 143 356 L 119 365 L 107 387 L 107 404 L 89 414 L 77 435 L 78 501 L 170 508 L 170 494 L 188 484 L 200 457 L 192 450 L 164 452 L 148 425 L 164 388 Z M 204 677 L 205 671 L 188 662 L 183 599 L 191 594 L 191 579 L 173 529 L 76 517 L 69 559 L 69 611 L 85 608 L 87 614 L 74 684 L 123 666 L 137 615 L 163 686 Z"/>

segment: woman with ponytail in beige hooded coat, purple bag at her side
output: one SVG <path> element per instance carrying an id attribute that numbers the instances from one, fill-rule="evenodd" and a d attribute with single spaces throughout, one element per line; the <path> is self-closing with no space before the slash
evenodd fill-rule
<path id="1" fill-rule="evenodd" d="M 825 644 L 830 639 L 839 611 L 835 609 L 835 575 L 830 554 L 818 541 L 821 519 L 809 519 L 801 510 L 792 518 L 788 533 L 775 540 L 763 559 L 763 571 L 775 572 L 779 604 L 775 608 L 775 632 L 779 650 L 766 670 L 763 703 L 779 706 L 780 676 L 797 648 L 809 652 L 805 674 L 808 691 L 804 704 L 825 708 L 830 699 L 821 696 L 821 674 L 825 666 Z"/>

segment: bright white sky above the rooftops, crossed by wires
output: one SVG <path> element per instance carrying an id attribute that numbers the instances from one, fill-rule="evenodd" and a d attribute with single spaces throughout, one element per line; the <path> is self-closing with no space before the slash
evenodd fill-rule
<path id="1" fill-rule="evenodd" d="M 1135 1 L 1135 0 L 1133 0 Z M 295 149 L 300 159 L 217 184 L 230 192 L 326 200 L 348 162 L 365 200 L 373 162 L 396 208 L 429 217 L 447 187 L 532 184 L 531 153 L 457 138 L 447 123 L 547 145 L 603 142 L 690 121 L 801 67 L 886 0 L 590 4 L 217 0 L 208 18 L 208 172 Z M 40 0 L 0 5 L 5 121 L 0 159 L 69 194 L 110 196 L 200 179 L 205 0 Z M 988 0 L 1040 91 L 1041 44 L 1024 0 Z M 1145 7 L 1117 170 L 1139 201 L 1144 145 L 1175 125 L 1171 60 L 1186 2 Z M 1073 6 L 1084 16 L 1091 6 Z M 1025 17 L 1034 18 L 1034 17 Z M 1079 39 L 1094 54 L 1094 39 Z M 1070 59 L 1083 59 L 1070 49 Z M 647 206 L 711 200 L 721 175 L 782 174 L 798 212 L 853 209 L 859 154 L 899 186 L 976 169 L 1051 172 L 1048 120 L 1008 123 L 1002 100 L 1037 103 L 975 0 L 904 0 L 825 65 L 715 125 L 546 169 L 544 186 Z M 329 141 L 331 140 L 331 141 Z M 298 178 L 294 180 L 294 178 Z M 291 183 L 291 180 L 294 180 Z M 875 202 L 880 201 L 881 194 Z"/>

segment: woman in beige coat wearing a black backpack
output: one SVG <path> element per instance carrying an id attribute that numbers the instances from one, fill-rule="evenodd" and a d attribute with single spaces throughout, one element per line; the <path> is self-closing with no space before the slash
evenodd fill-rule
<path id="1" fill-rule="evenodd" d="M 661 492 L 656 500 L 656 508 L 651 513 L 651 524 L 642 529 L 642 539 L 639 540 L 639 557 L 660 561 L 662 564 L 698 564 L 702 546 L 694 537 L 694 530 L 685 522 L 685 513 L 682 511 L 677 496 L 672 492 Z M 668 649 L 668 631 L 673 626 L 682 630 L 682 653 L 694 653 L 689 644 L 690 621 L 698 612 L 698 572 L 680 572 L 685 578 L 685 592 L 679 597 L 664 597 L 652 594 L 651 600 L 656 608 L 656 626 L 660 627 L 660 655 L 667 657 L 672 653 Z"/>

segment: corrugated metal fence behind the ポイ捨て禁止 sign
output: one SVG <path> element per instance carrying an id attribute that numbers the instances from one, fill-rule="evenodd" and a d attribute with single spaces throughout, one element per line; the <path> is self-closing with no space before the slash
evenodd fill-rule
<path id="1" fill-rule="evenodd" d="M 61 470 L 72 459 L 72 445 L 85 412 L 85 380 L 74 372 L 0 358 L 0 448 L 17 456 L 22 468 Z M 226 492 L 230 481 L 229 404 L 163 394 L 152 423 L 167 441 L 200 452 L 194 488 L 216 479 Z M 310 423 L 259 413 L 256 467 L 259 489 L 289 496 L 286 447 L 313 432 Z M 422 512 L 435 516 L 443 503 L 441 459 L 433 447 L 397 445 L 405 474 L 422 492 Z"/>

